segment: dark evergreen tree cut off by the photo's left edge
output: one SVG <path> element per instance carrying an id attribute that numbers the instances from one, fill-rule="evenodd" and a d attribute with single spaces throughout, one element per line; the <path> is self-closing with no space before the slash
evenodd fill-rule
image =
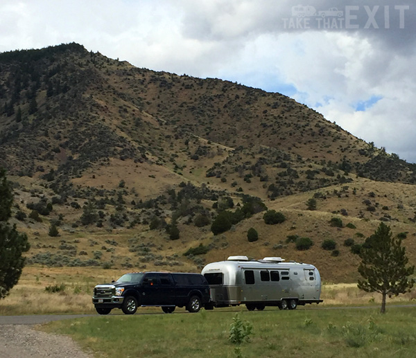
<path id="1" fill-rule="evenodd" d="M 13 202 L 12 188 L 6 179 L 6 170 L 0 168 L 0 298 L 19 281 L 24 267 L 21 254 L 28 251 L 28 238 L 25 233 L 19 233 L 16 225 L 10 226 Z"/>

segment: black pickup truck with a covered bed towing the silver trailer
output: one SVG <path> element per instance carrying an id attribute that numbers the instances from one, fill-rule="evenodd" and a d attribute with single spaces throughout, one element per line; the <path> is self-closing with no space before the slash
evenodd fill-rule
<path id="1" fill-rule="evenodd" d="M 109 314 L 113 308 L 135 314 L 139 306 L 162 307 L 165 313 L 172 313 L 175 307 L 198 312 L 202 306 L 211 309 L 209 300 L 209 285 L 204 276 L 166 272 L 125 274 L 112 283 L 94 287 L 92 297 L 99 314 Z"/>

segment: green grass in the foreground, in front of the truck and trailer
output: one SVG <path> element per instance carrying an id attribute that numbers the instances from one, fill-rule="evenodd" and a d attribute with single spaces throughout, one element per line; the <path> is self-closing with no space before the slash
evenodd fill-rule
<path id="1" fill-rule="evenodd" d="M 44 330 L 69 334 L 97 357 L 236 357 L 229 327 L 236 312 L 96 316 Z M 414 357 L 416 307 L 240 313 L 253 326 L 241 345 L 250 357 Z"/>

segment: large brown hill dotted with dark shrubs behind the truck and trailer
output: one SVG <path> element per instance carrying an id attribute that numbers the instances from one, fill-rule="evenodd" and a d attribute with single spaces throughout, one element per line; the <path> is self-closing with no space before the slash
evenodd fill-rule
<path id="1" fill-rule="evenodd" d="M 1 53 L 0 94 L 0 165 L 33 265 L 195 271 L 240 253 L 354 280 L 344 241 L 363 242 L 379 220 L 407 233 L 413 252 L 415 165 L 279 93 L 62 44 Z M 317 210 L 306 210 L 309 199 Z M 287 220 L 265 224 L 266 207 Z M 225 210 L 231 230 L 213 235 Z M 48 235 L 51 225 L 59 236 Z M 250 227 L 257 242 L 247 240 Z M 286 242 L 295 235 L 314 246 L 297 251 Z M 183 256 L 200 244 L 206 253 Z"/>

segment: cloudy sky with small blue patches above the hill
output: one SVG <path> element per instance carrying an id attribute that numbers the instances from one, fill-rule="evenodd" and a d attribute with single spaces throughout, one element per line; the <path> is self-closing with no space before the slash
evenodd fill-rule
<path id="1" fill-rule="evenodd" d="M 78 42 L 283 93 L 416 162 L 416 1 L 1 0 L 0 52 Z"/>

